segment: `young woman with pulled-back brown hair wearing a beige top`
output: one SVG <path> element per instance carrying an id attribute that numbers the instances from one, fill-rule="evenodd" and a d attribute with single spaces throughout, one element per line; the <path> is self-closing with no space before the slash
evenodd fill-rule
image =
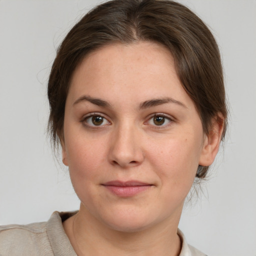
<path id="1" fill-rule="evenodd" d="M 1 227 L 0 252 L 204 255 L 177 228 L 226 128 L 221 61 L 204 23 L 172 1 L 103 3 L 61 43 L 48 99 L 80 209 Z"/>

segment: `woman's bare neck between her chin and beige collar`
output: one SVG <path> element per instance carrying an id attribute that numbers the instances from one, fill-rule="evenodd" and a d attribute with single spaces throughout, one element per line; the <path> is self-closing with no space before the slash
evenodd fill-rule
<path id="1" fill-rule="evenodd" d="M 142 230 L 124 232 L 102 224 L 81 206 L 63 226 L 78 256 L 102 255 L 102 250 L 105 256 L 176 256 L 181 249 L 178 221 L 179 216 Z"/>

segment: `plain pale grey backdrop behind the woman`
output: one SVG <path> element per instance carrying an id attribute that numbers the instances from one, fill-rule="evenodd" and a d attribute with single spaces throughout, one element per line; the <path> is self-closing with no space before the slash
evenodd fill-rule
<path id="1" fill-rule="evenodd" d="M 219 43 L 229 101 L 224 149 L 180 229 L 214 256 L 256 255 L 256 1 L 184 0 Z M 0 224 L 45 221 L 79 201 L 46 136 L 55 50 L 98 0 L 0 0 Z"/>

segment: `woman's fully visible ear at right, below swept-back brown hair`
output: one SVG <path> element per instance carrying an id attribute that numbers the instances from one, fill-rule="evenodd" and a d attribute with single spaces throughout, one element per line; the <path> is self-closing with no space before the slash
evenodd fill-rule
<path id="1" fill-rule="evenodd" d="M 199 158 L 199 165 L 209 166 L 218 152 L 223 132 L 224 117 L 218 113 L 212 118 L 211 127 L 208 134 L 205 134 L 203 147 Z"/>

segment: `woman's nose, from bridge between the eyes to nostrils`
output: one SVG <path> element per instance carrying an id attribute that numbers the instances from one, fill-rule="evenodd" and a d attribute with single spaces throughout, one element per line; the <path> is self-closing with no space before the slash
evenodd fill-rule
<path id="1" fill-rule="evenodd" d="M 132 125 L 116 127 L 110 142 L 109 161 L 123 168 L 137 166 L 144 160 L 141 136 L 138 128 Z"/>

